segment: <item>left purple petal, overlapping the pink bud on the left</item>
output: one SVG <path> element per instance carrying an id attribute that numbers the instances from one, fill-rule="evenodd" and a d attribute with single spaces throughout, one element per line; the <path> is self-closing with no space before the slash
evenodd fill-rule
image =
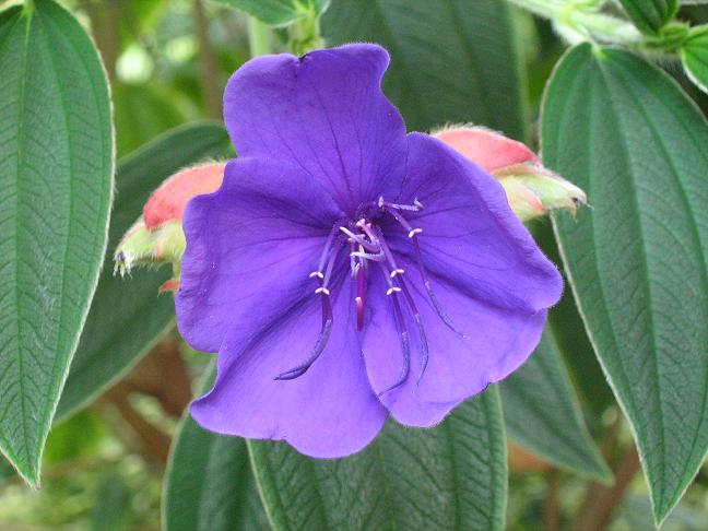
<path id="1" fill-rule="evenodd" d="M 182 337 L 216 352 L 231 323 L 260 327 L 309 296 L 316 285 L 308 275 L 341 215 L 321 185 L 295 166 L 231 161 L 222 187 L 185 211 L 175 299 Z"/>

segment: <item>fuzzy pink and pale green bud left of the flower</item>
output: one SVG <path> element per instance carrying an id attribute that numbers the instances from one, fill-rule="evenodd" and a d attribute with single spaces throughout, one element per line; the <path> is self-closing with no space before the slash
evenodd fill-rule
<path id="1" fill-rule="evenodd" d="M 170 263 L 173 276 L 160 291 L 179 287 L 179 267 L 185 252 L 181 226 L 187 202 L 194 196 L 216 191 L 224 178 L 225 163 L 209 163 L 182 169 L 165 180 L 143 208 L 143 215 L 125 234 L 116 252 L 115 270 L 121 275 L 133 267 Z"/>

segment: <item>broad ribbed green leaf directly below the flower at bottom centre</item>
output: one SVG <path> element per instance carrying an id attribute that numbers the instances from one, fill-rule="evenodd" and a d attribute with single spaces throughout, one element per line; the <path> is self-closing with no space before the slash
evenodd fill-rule
<path id="1" fill-rule="evenodd" d="M 248 446 L 275 529 L 504 529 L 506 445 L 495 388 L 430 429 L 389 422 L 344 459 L 309 459 L 280 441 Z"/>

